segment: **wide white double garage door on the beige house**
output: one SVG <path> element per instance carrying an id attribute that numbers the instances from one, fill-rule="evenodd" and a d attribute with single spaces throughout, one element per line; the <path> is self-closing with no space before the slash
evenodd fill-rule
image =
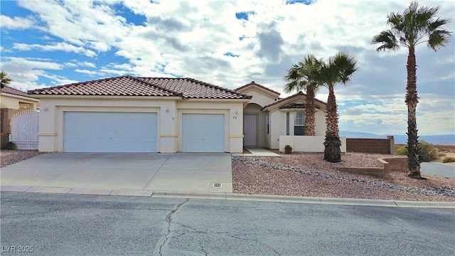
<path id="1" fill-rule="evenodd" d="M 65 112 L 65 152 L 156 152 L 156 113 Z"/>

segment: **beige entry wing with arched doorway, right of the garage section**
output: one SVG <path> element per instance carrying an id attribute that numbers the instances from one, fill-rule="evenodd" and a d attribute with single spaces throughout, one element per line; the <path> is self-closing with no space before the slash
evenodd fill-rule
<path id="1" fill-rule="evenodd" d="M 316 136 L 304 136 L 306 95 L 298 92 L 279 98 L 279 92 L 255 81 L 235 89 L 252 95 L 244 113 L 244 145 L 284 151 L 289 144 L 294 151 L 323 151 L 326 132 L 326 103 L 316 100 Z M 342 139 L 343 141 L 343 139 Z M 346 142 L 342 146 L 346 152 Z"/>

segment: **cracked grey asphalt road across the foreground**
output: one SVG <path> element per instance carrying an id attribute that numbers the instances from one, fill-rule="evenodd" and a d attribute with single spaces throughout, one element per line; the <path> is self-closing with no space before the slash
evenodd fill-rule
<path id="1" fill-rule="evenodd" d="M 454 255 L 454 213 L 2 192 L 1 254 Z"/>

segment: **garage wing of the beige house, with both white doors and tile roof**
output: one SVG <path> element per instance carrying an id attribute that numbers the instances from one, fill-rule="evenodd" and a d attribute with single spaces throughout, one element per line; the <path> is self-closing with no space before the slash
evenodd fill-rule
<path id="1" fill-rule="evenodd" d="M 191 78 L 117 78 L 28 91 L 39 150 L 242 152 L 250 95 Z"/>

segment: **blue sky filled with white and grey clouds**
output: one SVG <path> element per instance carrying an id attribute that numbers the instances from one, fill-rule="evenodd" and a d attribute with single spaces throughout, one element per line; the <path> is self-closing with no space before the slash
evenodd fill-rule
<path id="1" fill-rule="evenodd" d="M 452 0 L 419 1 L 455 17 Z M 407 49 L 370 41 L 408 1 L 0 1 L 1 69 L 31 90 L 118 75 L 189 77 L 235 89 L 252 80 L 283 92 L 304 55 L 348 50 L 359 70 L 336 87 L 340 129 L 405 134 Z M 454 21 L 448 26 L 455 31 Z M 455 44 L 417 47 L 420 135 L 455 134 Z M 316 97 L 326 101 L 327 90 Z M 282 94 L 282 97 L 287 96 Z"/>

